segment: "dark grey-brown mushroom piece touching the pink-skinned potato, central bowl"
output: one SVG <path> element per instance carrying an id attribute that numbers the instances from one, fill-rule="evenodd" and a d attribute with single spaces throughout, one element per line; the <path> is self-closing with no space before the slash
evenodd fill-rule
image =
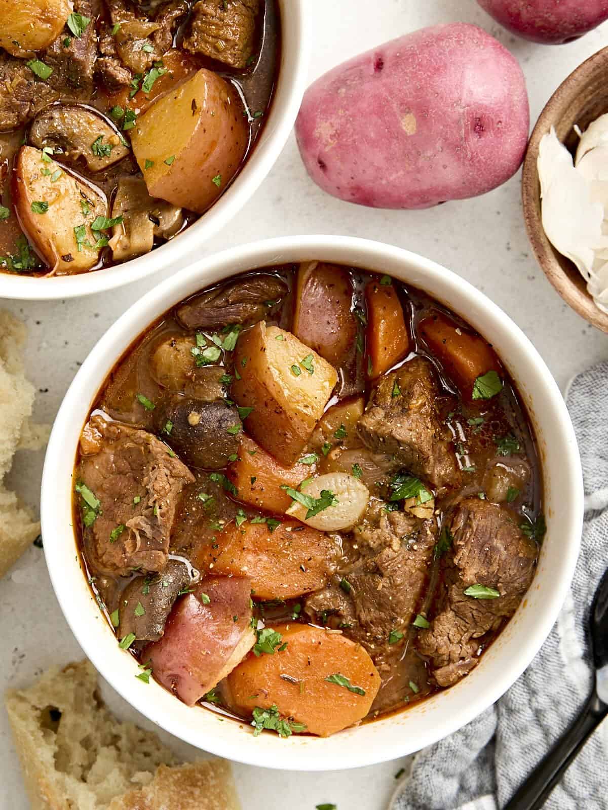
<path id="1" fill-rule="evenodd" d="M 169 560 L 156 577 L 135 577 L 122 591 L 118 636 L 133 633 L 137 639 L 156 642 L 165 633 L 173 602 L 190 582 L 188 566 L 179 560 Z"/>

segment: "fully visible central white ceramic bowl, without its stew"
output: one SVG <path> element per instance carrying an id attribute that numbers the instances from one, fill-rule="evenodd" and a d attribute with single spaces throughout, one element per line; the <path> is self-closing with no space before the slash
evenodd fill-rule
<path id="1" fill-rule="evenodd" d="M 137 680 L 137 663 L 118 648 L 97 608 L 76 554 L 71 526 L 72 467 L 79 433 L 118 357 L 161 313 L 209 283 L 282 262 L 322 259 L 394 275 L 422 288 L 494 344 L 516 380 L 536 430 L 545 480 L 547 535 L 537 573 L 516 615 L 482 662 L 459 684 L 420 705 L 328 739 L 257 738 L 246 723 L 188 708 L 153 680 Z M 562 395 L 523 332 L 458 275 L 406 250 L 350 237 L 285 237 L 242 245 L 196 262 L 148 292 L 106 332 L 72 382 L 55 420 L 42 480 L 42 532 L 51 580 L 80 646 L 101 675 L 154 723 L 229 759 L 289 770 L 334 770 L 414 752 L 469 723 L 520 676 L 544 642 L 567 593 L 579 549 L 582 476 Z M 547 688 L 550 688 L 549 684 Z"/>

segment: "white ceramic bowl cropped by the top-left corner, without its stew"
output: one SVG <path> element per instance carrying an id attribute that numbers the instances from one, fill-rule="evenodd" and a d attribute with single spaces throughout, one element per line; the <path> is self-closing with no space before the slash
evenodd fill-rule
<path id="1" fill-rule="evenodd" d="M 229 189 L 178 237 L 151 253 L 102 270 L 57 278 L 0 273 L 0 298 L 48 301 L 88 296 L 181 267 L 204 251 L 205 243 L 232 220 L 255 194 L 280 155 L 298 115 L 306 89 L 310 52 L 310 11 L 306 0 L 278 0 L 281 19 L 280 68 L 267 121 L 251 156 Z"/>

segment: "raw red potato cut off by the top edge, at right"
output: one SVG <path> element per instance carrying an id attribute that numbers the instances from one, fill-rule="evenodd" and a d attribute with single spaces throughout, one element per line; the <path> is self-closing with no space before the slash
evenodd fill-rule
<path id="1" fill-rule="evenodd" d="M 477 0 L 489 15 L 518 36 L 561 45 L 608 19 L 606 0 Z"/>

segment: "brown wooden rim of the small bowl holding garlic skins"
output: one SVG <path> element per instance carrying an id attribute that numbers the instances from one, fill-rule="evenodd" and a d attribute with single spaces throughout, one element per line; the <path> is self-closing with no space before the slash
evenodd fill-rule
<path id="1" fill-rule="evenodd" d="M 542 109 L 530 135 L 528 147 L 526 148 L 524 165 L 521 174 L 521 203 L 524 211 L 525 228 L 528 232 L 530 245 L 533 254 L 541 267 L 546 278 L 559 295 L 566 301 L 581 318 L 596 329 L 608 332 L 608 314 L 593 303 L 593 298 L 587 292 L 584 279 L 580 276 L 578 269 L 572 264 L 573 273 L 580 283 L 577 284 L 570 275 L 563 269 L 556 255 L 558 251 L 551 245 L 545 230 L 542 227 L 542 219 L 537 202 L 540 200 L 540 184 L 538 180 L 537 159 L 538 147 L 543 135 L 547 134 L 550 127 L 554 125 L 555 112 L 567 107 L 569 99 L 572 97 L 572 90 L 576 89 L 576 84 L 581 77 L 595 73 L 600 67 L 608 70 L 608 46 L 593 53 L 589 58 L 581 62 L 572 73 L 567 75 L 557 90 Z M 574 86 L 574 87 L 572 87 Z"/>

